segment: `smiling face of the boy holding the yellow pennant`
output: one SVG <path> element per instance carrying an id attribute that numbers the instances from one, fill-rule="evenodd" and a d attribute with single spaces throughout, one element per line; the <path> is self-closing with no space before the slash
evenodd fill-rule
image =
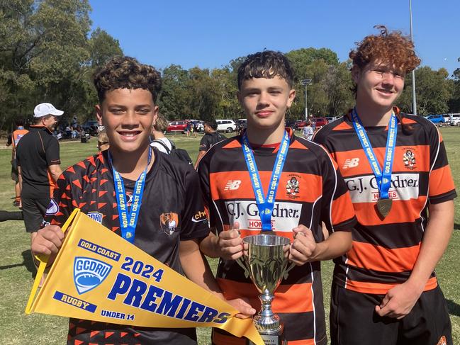
<path id="1" fill-rule="evenodd" d="M 149 145 L 158 106 L 144 89 L 116 89 L 106 92 L 96 106 L 99 123 L 106 128 L 110 146 L 121 152 L 135 152 Z"/>

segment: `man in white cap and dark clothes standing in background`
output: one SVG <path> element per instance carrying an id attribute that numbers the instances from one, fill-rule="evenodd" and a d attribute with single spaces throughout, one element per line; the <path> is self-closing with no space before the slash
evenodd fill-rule
<path id="1" fill-rule="evenodd" d="M 52 136 L 57 117 L 64 112 L 51 103 L 40 103 L 33 110 L 35 124 L 16 149 L 21 200 L 26 232 L 33 239 L 50 205 L 52 190 L 62 173 L 59 142 Z"/>

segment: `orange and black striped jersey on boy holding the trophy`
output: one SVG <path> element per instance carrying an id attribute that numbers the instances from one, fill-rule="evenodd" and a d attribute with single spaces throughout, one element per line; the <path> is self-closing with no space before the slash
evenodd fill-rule
<path id="1" fill-rule="evenodd" d="M 330 232 L 349 231 L 356 218 L 337 165 L 320 145 L 290 133 L 290 145 L 276 192 L 271 225 L 276 234 L 293 239 L 298 225 L 309 227 L 316 242 L 324 239 L 321 222 Z M 277 148 L 254 148 L 264 193 L 275 163 Z M 211 227 L 218 232 L 240 223 L 241 236 L 259 234 L 262 228 L 241 136 L 211 147 L 198 165 Z M 217 280 L 225 298 L 245 297 L 260 310 L 259 293 L 235 261 L 220 260 Z M 285 325 L 289 344 L 325 344 L 320 263 L 296 266 L 276 290 L 274 312 Z M 215 330 L 215 344 L 245 344 Z"/>

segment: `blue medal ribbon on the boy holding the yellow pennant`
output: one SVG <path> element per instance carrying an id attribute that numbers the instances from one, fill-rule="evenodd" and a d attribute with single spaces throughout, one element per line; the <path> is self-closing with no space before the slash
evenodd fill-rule
<path id="1" fill-rule="evenodd" d="M 120 220 L 121 236 L 128 242 L 133 243 L 136 232 L 136 225 L 138 225 L 140 206 L 142 205 L 142 194 L 144 193 L 145 176 L 147 175 L 147 168 L 152 159 L 152 149 L 149 147 L 147 166 L 145 166 L 144 171 L 142 171 L 142 174 L 140 174 L 138 180 L 135 183 L 133 201 L 131 202 L 131 208 L 129 210 L 128 203 L 126 203 L 125 183 L 123 183 L 123 178 L 120 176 L 118 171 L 116 171 L 112 164 L 110 151 L 108 152 L 108 159 L 113 171 L 113 184 L 115 185 L 115 195 L 118 207 L 118 218 Z"/>

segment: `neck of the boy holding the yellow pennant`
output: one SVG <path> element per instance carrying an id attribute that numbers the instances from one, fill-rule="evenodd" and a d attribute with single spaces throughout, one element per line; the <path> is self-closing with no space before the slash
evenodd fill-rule
<path id="1" fill-rule="evenodd" d="M 122 152 L 116 148 L 110 147 L 113 167 L 118 173 L 130 180 L 137 180 L 145 166 L 147 166 L 150 146 L 142 147 L 135 152 Z M 152 166 L 154 154 L 148 169 Z"/>

